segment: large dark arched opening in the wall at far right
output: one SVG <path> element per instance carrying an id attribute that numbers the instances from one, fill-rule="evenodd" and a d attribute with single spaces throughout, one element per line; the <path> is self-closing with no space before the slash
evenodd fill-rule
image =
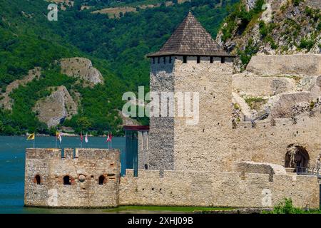
<path id="1" fill-rule="evenodd" d="M 285 167 L 290 168 L 307 168 L 309 165 L 309 153 L 300 145 L 290 144 L 287 146 L 285 154 Z"/>

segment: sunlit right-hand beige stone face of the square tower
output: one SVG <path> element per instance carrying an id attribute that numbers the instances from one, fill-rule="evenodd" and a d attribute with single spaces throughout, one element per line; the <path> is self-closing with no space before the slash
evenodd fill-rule
<path id="1" fill-rule="evenodd" d="M 209 57 L 200 63 L 196 58 L 186 64 L 181 57 L 175 60 L 175 91 L 197 92 L 200 100 L 197 125 L 175 118 L 174 170 L 224 169 L 222 161 L 230 154 L 232 71 L 232 58 L 225 63 L 216 57 L 213 63 Z"/>

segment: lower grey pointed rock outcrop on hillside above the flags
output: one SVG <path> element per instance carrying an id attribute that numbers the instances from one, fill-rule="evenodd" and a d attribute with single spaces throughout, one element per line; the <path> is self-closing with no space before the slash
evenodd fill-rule
<path id="1" fill-rule="evenodd" d="M 78 105 L 73 101 L 65 86 L 49 89 L 54 89 L 54 92 L 49 97 L 39 100 L 33 110 L 39 120 L 51 128 L 75 115 Z"/>

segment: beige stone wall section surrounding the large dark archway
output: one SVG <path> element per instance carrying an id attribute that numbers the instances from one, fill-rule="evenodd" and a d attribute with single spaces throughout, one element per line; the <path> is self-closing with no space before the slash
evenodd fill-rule
<path id="1" fill-rule="evenodd" d="M 232 170 L 235 161 L 268 162 L 285 165 L 287 146 L 294 143 L 305 147 L 310 157 L 310 165 L 317 164 L 321 153 L 320 110 L 314 116 L 302 113 L 297 116 L 296 123 L 290 118 L 275 118 L 275 124 L 270 119 L 256 122 L 255 128 L 250 122 L 238 123 L 233 129 L 230 153 L 225 162 L 225 168 Z"/>

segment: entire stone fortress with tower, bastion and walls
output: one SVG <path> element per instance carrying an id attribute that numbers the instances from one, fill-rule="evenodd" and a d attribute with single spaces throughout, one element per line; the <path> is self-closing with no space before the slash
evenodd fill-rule
<path id="1" fill-rule="evenodd" d="M 151 91 L 200 94 L 198 124 L 126 126 L 126 164 L 118 150 L 27 149 L 26 206 L 320 207 L 321 55 L 254 56 L 233 74 L 190 13 L 148 57 Z"/>

